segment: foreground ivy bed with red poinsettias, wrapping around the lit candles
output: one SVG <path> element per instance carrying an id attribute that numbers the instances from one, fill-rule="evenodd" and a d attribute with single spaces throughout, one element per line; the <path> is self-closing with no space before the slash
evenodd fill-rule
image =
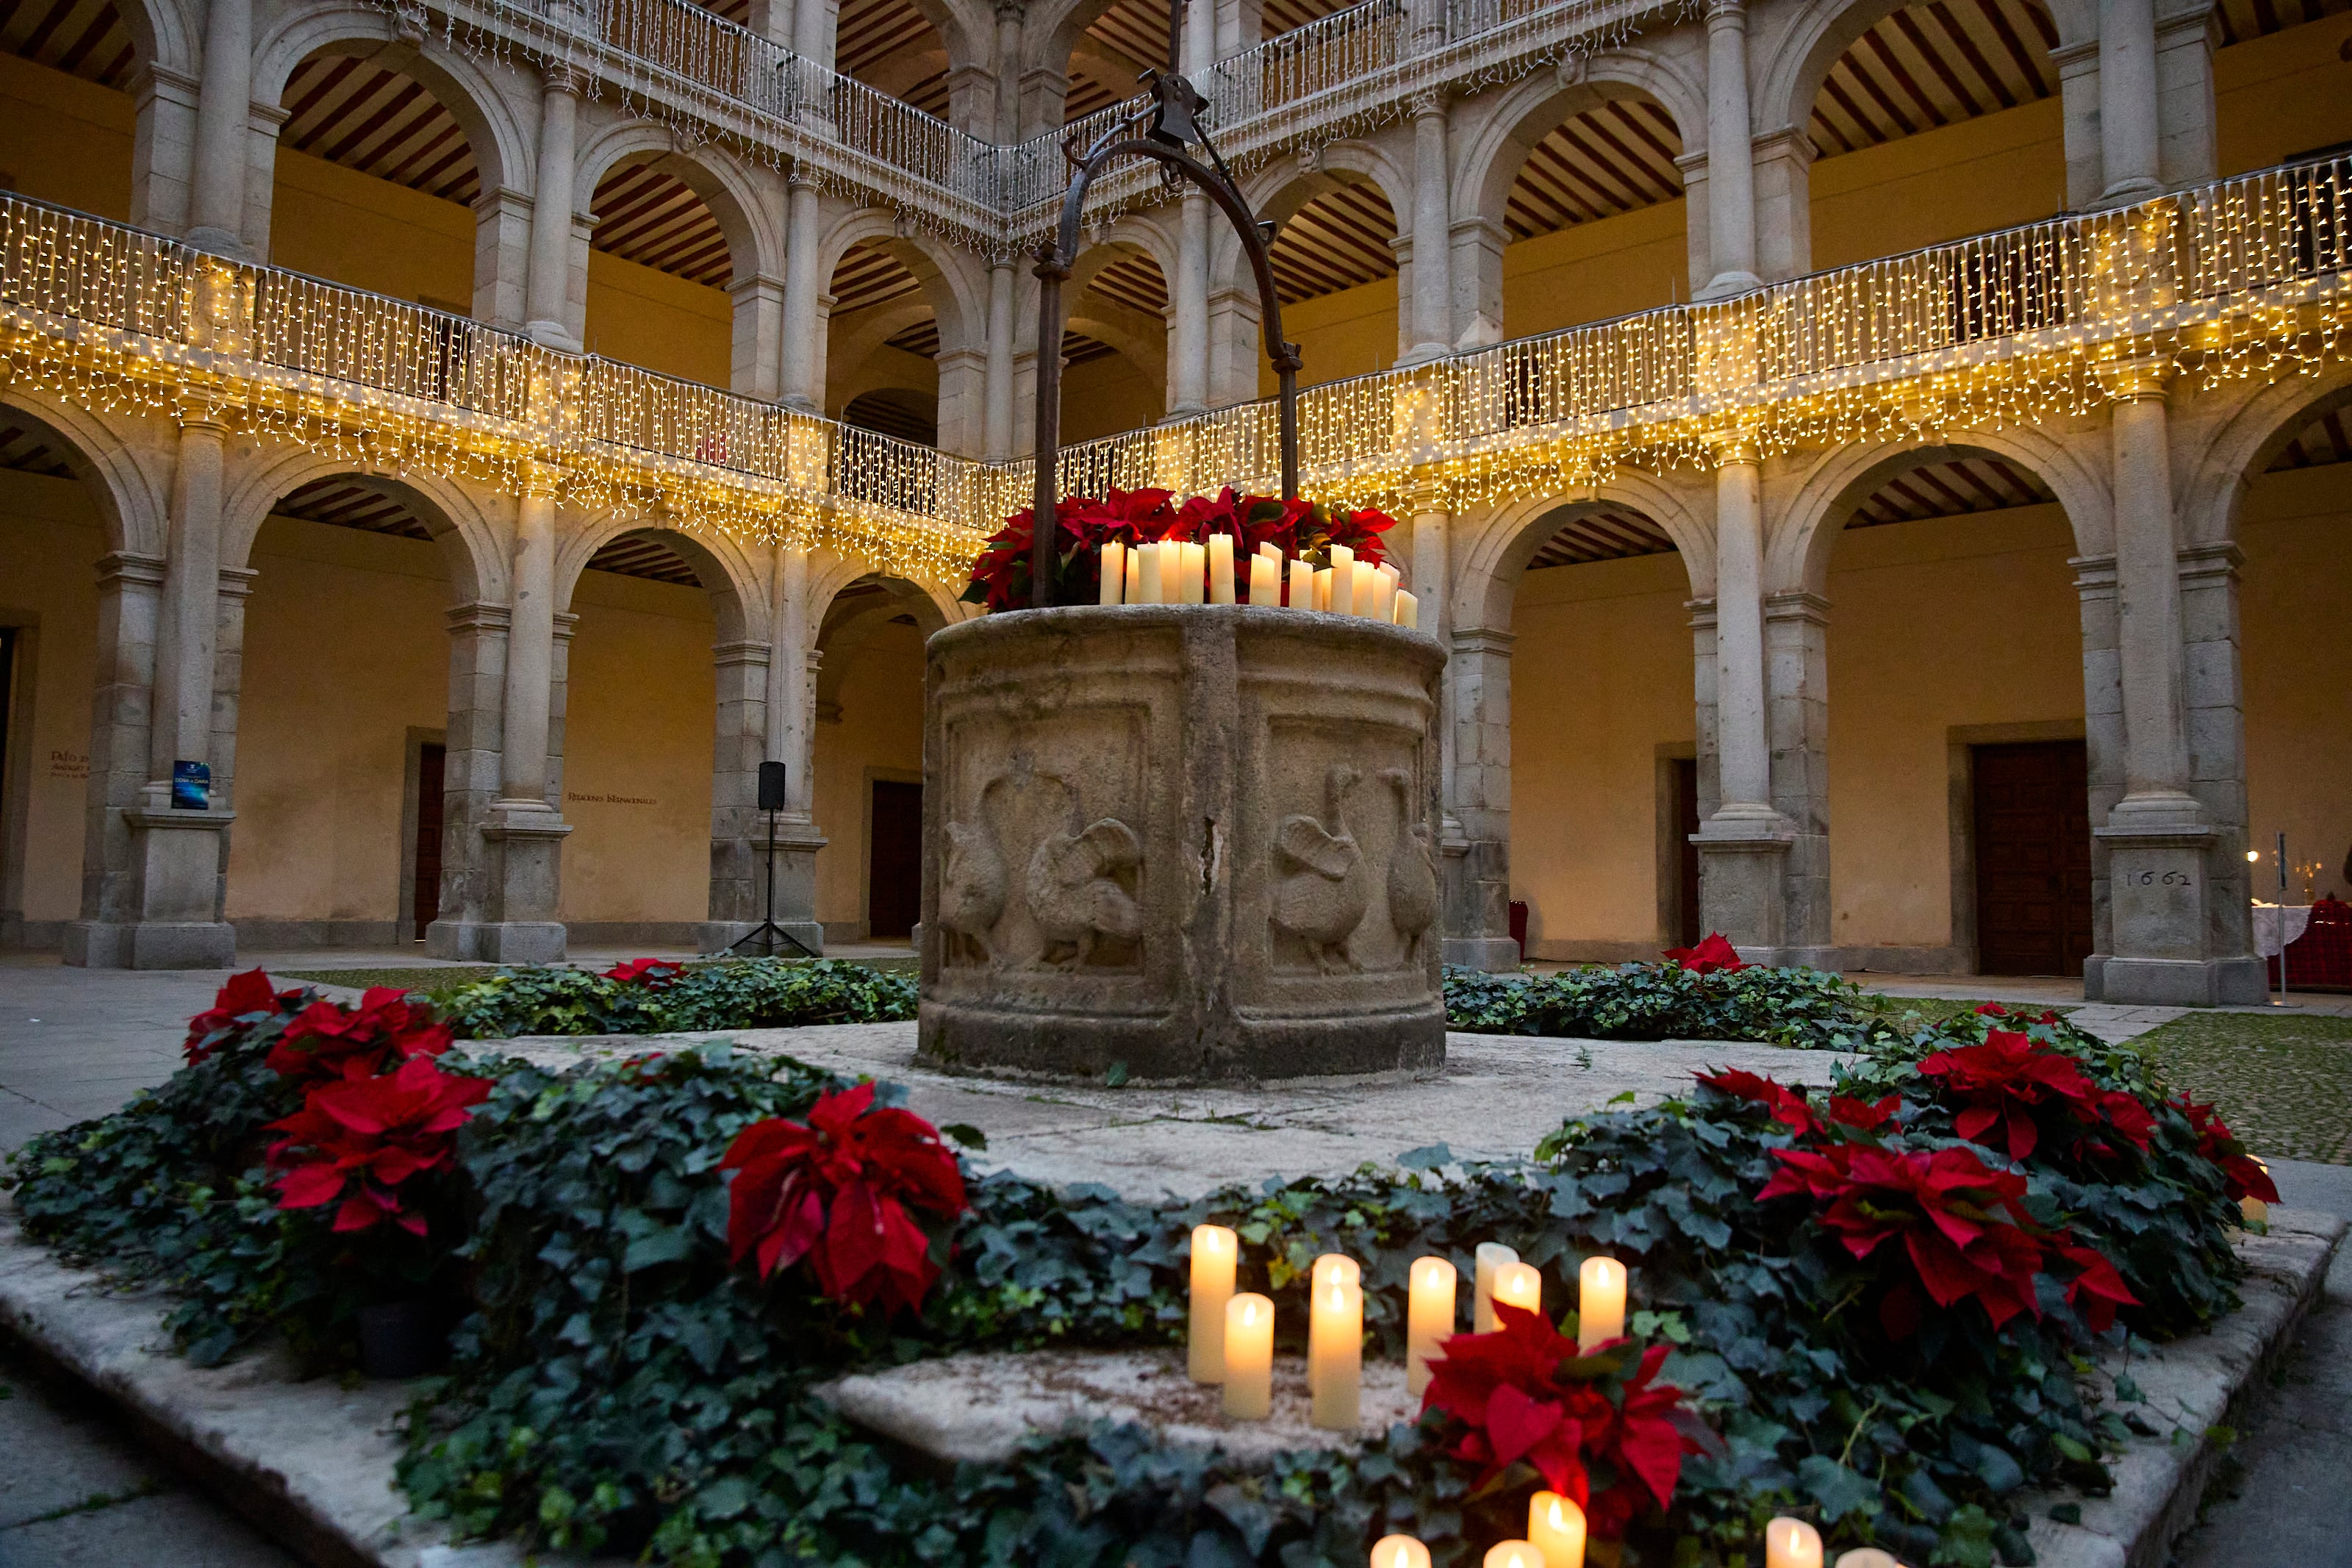
<path id="1" fill-rule="evenodd" d="M 684 985 L 623 971 L 647 1006 Z M 1352 1568 L 1404 1530 L 1456 1566 L 1517 1535 L 1538 1483 L 1621 1566 L 1755 1561 L 1783 1512 L 1832 1549 L 2020 1563 L 2023 1488 L 2098 1490 L 2136 1420 L 2129 1387 L 2084 1401 L 2084 1356 L 2227 1312 L 2260 1182 L 2136 1053 L 1999 1013 L 1879 1044 L 1828 1095 L 1708 1074 L 1524 1159 L 1432 1147 L 1190 1204 L 983 1173 L 889 1086 L 797 1063 L 557 1072 L 461 1060 L 452 1032 L 397 992 L 350 1009 L 240 976 L 169 1084 L 19 1154 L 19 1215 L 179 1291 L 198 1361 L 278 1333 L 334 1371 L 362 1309 L 440 1302 L 414 1507 L 659 1563 Z M 955 1349 L 1176 1345 L 1202 1220 L 1240 1229 L 1291 1352 L 1319 1253 L 1362 1262 L 1367 1354 L 1397 1359 L 1411 1260 L 1468 1272 L 1482 1241 L 1548 1302 L 1585 1255 L 1625 1260 L 1630 1335 L 1461 1335 L 1418 1422 L 1265 1465 L 1098 1427 L 941 1474 L 811 1392 Z"/>

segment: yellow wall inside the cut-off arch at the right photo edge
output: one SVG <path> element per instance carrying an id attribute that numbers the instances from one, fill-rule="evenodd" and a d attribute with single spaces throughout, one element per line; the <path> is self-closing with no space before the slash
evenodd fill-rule
<path id="1" fill-rule="evenodd" d="M 2239 649 L 2246 684 L 2256 896 L 2277 898 L 2272 844 L 2321 865 L 2317 891 L 2352 898 L 2352 470 L 2263 475 L 2239 522 Z M 2303 884 L 2296 884 L 2296 900 Z"/>

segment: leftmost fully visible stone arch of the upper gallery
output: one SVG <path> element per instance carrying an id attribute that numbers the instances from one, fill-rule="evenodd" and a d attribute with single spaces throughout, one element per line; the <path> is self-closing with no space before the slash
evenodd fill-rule
<path id="1" fill-rule="evenodd" d="M 315 54 L 355 54 L 412 78 L 466 132 L 485 190 L 529 186 L 539 106 L 536 99 L 522 101 L 510 80 L 430 35 L 423 42 L 402 38 L 388 9 L 332 5 L 294 9 L 256 40 L 254 101 L 285 99 L 294 68 Z"/>

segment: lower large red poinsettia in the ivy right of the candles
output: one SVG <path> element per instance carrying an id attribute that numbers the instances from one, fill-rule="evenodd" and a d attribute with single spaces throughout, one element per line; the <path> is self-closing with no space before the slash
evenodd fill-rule
<path id="1" fill-rule="evenodd" d="M 1825 1150 L 1773 1150 L 1780 1171 L 1757 1199 L 1806 1194 L 1818 1218 L 1856 1258 L 1900 1239 L 1917 1284 L 1938 1307 L 1976 1298 L 1999 1328 L 2020 1312 L 2034 1316 L 2042 1241 L 2025 1211 L 2025 1178 L 1992 1171 L 1971 1150 L 1882 1150 L 1837 1143 Z M 1919 1298 L 1898 1281 L 1879 1302 L 1889 1338 L 1919 1326 Z"/>

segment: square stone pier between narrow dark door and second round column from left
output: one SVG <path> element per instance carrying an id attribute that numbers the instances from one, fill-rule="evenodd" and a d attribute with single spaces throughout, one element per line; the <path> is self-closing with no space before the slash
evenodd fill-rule
<path id="1" fill-rule="evenodd" d="M 442 762 L 442 886 L 426 926 L 435 959 L 480 959 L 489 919 L 489 806 L 499 799 L 506 729 L 506 604 L 449 609 L 449 719 Z"/>

